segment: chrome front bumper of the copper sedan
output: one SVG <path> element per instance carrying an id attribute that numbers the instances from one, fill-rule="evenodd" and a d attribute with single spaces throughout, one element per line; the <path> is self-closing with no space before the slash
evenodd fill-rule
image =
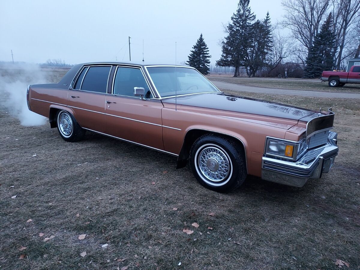
<path id="1" fill-rule="evenodd" d="M 338 154 L 337 133 L 329 132 L 327 144 L 307 150 L 295 162 L 262 157 L 262 179 L 301 188 L 310 178 L 318 179 L 329 172 Z"/>

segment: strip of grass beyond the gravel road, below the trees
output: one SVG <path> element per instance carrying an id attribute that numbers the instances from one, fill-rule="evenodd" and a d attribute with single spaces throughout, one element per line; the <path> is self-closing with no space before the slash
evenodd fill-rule
<path id="1" fill-rule="evenodd" d="M 310 90 L 324 92 L 360 93 L 360 84 L 346 84 L 343 87 L 329 87 L 328 82 L 313 79 L 278 79 L 247 77 L 208 77 L 210 80 L 231 82 L 234 84 L 278 89 Z"/>

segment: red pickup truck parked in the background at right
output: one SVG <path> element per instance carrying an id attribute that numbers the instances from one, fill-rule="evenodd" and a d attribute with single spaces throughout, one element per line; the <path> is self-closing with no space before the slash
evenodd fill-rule
<path id="1" fill-rule="evenodd" d="M 360 84 L 360 66 L 352 66 L 349 72 L 323 71 L 321 81 L 328 81 L 330 87 L 344 86 L 345 84 Z"/>

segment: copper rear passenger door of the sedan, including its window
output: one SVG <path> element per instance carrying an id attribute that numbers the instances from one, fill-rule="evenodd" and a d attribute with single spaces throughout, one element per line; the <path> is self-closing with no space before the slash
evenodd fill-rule
<path id="1" fill-rule="evenodd" d="M 68 92 L 68 107 L 85 129 L 105 131 L 105 96 L 111 65 L 84 66 Z"/>

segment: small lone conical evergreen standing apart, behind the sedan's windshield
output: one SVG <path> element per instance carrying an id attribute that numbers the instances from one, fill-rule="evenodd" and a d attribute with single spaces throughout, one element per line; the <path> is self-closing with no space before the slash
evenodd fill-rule
<path id="1" fill-rule="evenodd" d="M 193 46 L 193 50 L 191 50 L 187 64 L 190 67 L 196 68 L 203 75 L 209 75 L 210 57 L 211 55 L 209 55 L 209 48 L 207 47 L 201 34 L 199 39 L 196 41 L 196 44 Z"/>

